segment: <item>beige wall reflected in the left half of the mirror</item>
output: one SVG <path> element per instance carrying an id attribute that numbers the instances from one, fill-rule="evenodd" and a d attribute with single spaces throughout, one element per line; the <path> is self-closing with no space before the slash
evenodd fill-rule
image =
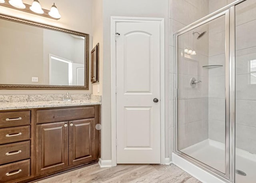
<path id="1" fill-rule="evenodd" d="M 34 84 L 32 77 L 44 84 L 42 29 L 1 19 L 0 43 L 1 84 Z"/>

